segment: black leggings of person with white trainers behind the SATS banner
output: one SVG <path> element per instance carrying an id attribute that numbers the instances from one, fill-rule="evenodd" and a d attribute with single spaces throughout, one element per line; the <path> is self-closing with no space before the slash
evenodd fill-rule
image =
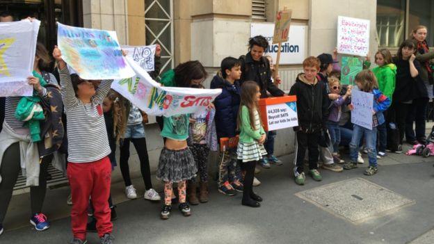
<path id="1" fill-rule="evenodd" d="M 140 172 L 142 172 L 143 182 L 145 182 L 146 190 L 152 188 L 151 170 L 149 165 L 149 156 L 147 155 L 146 138 L 125 138 L 120 145 L 120 172 L 124 178 L 125 186 L 131 186 L 131 178 L 129 177 L 129 142 L 133 142 L 136 148 L 138 159 L 140 160 Z"/>

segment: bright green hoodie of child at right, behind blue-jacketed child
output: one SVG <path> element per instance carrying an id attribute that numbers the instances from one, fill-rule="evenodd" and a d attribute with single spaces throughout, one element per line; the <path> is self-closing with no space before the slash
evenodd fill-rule
<path id="1" fill-rule="evenodd" d="M 395 90 L 396 65 L 389 63 L 374 67 L 372 72 L 376 75 L 380 92 L 383 92 L 383 95 L 392 101 L 392 95 Z"/>

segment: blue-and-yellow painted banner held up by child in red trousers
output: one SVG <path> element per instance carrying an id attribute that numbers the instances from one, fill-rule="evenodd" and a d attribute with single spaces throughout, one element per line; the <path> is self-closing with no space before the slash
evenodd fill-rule
<path id="1" fill-rule="evenodd" d="M 122 56 L 115 31 L 57 24 L 57 42 L 63 60 L 82 79 L 124 79 L 135 75 Z"/>

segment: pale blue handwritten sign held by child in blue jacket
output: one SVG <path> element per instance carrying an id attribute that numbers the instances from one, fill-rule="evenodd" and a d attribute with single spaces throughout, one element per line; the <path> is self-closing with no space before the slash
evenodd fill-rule
<path id="1" fill-rule="evenodd" d="M 372 129 L 373 95 L 368 92 L 353 89 L 351 91 L 351 123 L 366 129 Z"/>

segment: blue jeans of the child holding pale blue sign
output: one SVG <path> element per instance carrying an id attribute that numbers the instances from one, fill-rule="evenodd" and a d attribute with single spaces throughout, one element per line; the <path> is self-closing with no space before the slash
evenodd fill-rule
<path id="1" fill-rule="evenodd" d="M 364 136 L 364 143 L 368 149 L 369 166 L 377 167 L 377 128 L 366 129 L 354 124 L 353 138 L 350 143 L 350 158 L 352 162 L 357 162 L 359 155 L 360 138 Z"/>

